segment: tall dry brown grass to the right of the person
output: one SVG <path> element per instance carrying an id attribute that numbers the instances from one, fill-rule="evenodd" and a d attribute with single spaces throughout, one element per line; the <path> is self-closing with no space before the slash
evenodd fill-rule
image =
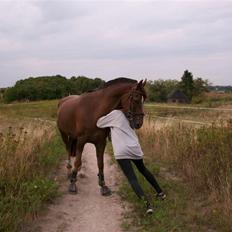
<path id="1" fill-rule="evenodd" d="M 192 190 L 232 214 L 232 121 L 193 127 L 146 120 L 139 131 L 148 159 L 163 160 Z"/>

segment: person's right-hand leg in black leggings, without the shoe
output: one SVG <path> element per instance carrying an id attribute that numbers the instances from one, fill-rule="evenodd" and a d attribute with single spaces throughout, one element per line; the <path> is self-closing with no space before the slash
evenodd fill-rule
<path id="1" fill-rule="evenodd" d="M 145 167 L 143 163 L 143 159 L 133 160 L 133 163 L 138 168 L 139 172 L 143 174 L 143 176 L 147 179 L 147 181 L 151 184 L 151 186 L 156 190 L 158 194 L 162 193 L 162 189 L 160 188 L 158 182 L 152 173 Z"/>

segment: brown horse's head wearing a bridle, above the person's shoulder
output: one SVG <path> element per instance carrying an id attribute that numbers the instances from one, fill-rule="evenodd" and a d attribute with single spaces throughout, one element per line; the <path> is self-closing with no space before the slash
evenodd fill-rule
<path id="1" fill-rule="evenodd" d="M 122 111 L 133 129 L 139 129 L 143 125 L 143 104 L 146 99 L 145 84 L 146 80 L 141 80 L 133 85 L 129 93 L 124 94 L 121 98 Z"/>

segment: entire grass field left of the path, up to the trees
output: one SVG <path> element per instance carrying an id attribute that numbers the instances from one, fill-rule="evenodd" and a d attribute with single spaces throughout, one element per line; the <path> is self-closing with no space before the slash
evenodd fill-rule
<path id="1" fill-rule="evenodd" d="M 51 173 L 65 151 L 55 115 L 56 101 L 0 105 L 0 231 L 19 231 L 57 195 Z"/>

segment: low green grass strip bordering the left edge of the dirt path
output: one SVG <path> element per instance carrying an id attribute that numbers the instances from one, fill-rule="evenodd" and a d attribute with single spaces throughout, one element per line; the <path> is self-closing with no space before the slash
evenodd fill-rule
<path id="1" fill-rule="evenodd" d="M 28 171 L 17 179 L 0 178 L 0 231 L 18 231 L 25 216 L 35 214 L 44 202 L 57 195 L 57 183 L 51 176 L 65 153 L 60 137 L 36 148 Z M 14 181 L 15 180 L 15 181 Z"/>

